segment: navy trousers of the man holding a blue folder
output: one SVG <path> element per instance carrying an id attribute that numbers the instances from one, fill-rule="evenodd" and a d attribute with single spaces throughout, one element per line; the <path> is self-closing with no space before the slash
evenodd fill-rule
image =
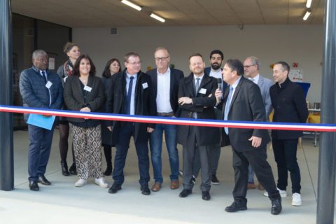
<path id="1" fill-rule="evenodd" d="M 47 168 L 50 148 L 52 144 L 52 130 L 46 130 L 42 127 L 28 125 L 29 151 L 28 151 L 28 174 L 29 181 L 38 181 L 38 176 L 45 174 Z"/>

